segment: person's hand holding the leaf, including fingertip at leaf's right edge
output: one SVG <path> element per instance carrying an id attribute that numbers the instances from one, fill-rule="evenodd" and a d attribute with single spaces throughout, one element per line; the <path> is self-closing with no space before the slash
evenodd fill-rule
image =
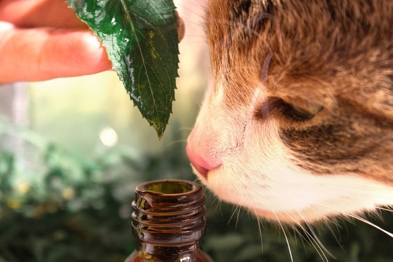
<path id="1" fill-rule="evenodd" d="M 179 32 L 181 38 L 182 23 Z M 97 36 L 65 0 L 0 0 L 0 83 L 89 75 L 111 67 Z"/>

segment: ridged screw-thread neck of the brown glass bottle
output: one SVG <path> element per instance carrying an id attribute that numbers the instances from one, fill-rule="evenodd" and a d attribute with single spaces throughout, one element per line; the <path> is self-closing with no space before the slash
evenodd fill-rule
<path id="1" fill-rule="evenodd" d="M 205 233 L 206 197 L 197 183 L 147 182 L 135 190 L 132 233 L 143 248 L 193 248 Z M 169 183 L 169 186 L 168 186 Z"/>

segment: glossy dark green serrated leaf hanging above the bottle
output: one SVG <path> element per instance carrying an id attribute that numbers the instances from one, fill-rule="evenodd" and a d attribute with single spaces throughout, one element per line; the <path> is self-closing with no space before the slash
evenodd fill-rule
<path id="1" fill-rule="evenodd" d="M 173 0 L 67 0 L 97 34 L 127 93 L 158 134 L 164 133 L 178 76 Z"/>

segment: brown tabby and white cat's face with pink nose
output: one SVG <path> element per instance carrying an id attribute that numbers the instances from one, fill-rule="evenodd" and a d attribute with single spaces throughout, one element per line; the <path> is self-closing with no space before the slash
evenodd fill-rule
<path id="1" fill-rule="evenodd" d="M 281 222 L 393 205 L 393 1 L 211 0 L 214 82 L 187 153 Z"/>

